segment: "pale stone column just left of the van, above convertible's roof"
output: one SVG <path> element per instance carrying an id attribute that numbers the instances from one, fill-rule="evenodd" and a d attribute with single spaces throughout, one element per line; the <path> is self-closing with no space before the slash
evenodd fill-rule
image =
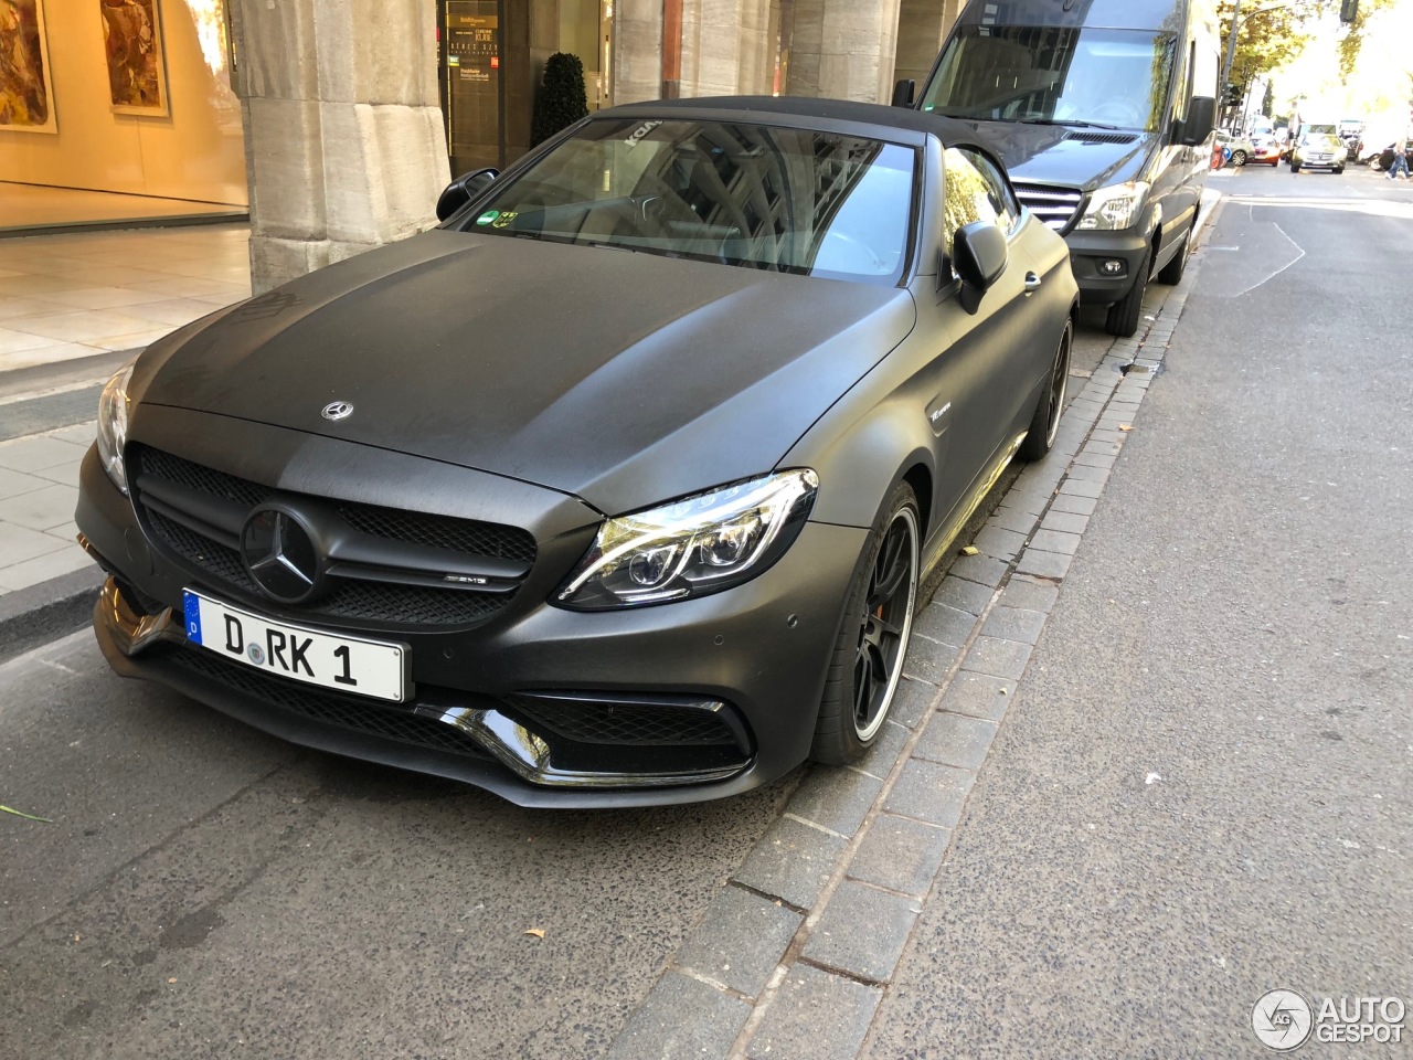
<path id="1" fill-rule="evenodd" d="M 793 96 L 887 103 L 893 96 L 899 0 L 796 0 Z"/>

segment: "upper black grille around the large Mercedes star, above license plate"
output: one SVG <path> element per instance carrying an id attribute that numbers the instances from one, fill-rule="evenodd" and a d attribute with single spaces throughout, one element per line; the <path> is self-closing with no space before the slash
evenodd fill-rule
<path id="1" fill-rule="evenodd" d="M 370 628 L 465 629 L 489 620 L 504 608 L 536 558 L 534 537 L 519 527 L 280 493 L 146 445 L 130 445 L 127 459 L 133 500 L 151 537 L 208 588 L 246 598 L 263 609 L 270 609 L 273 602 L 250 577 L 237 548 L 240 526 L 259 505 L 277 497 L 297 503 L 319 526 L 343 536 L 350 531 L 362 536 L 369 546 L 366 554 L 374 558 L 379 547 L 397 550 L 386 567 L 336 564 L 331 571 L 331 589 L 322 598 L 301 605 L 274 605 L 295 618 L 324 616 Z M 187 493 L 172 495 L 170 488 Z M 160 492 L 164 499 L 148 499 L 144 490 Z M 191 510 L 181 510 L 185 496 L 201 503 L 187 502 Z M 215 503 L 211 510 L 203 507 L 208 500 Z M 383 541 L 396 546 L 380 546 Z M 413 547 L 415 557 L 411 567 L 406 546 Z M 448 560 L 500 563 L 502 567 L 509 563 L 512 572 L 495 575 L 502 589 L 497 592 L 466 588 L 466 582 L 439 584 L 448 570 L 458 570 Z"/>

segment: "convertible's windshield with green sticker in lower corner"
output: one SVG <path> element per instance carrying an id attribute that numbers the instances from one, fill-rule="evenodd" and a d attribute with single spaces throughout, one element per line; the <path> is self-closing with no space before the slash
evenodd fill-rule
<path id="1" fill-rule="evenodd" d="M 916 164 L 911 147 L 838 133 L 602 119 L 461 228 L 893 285 Z"/>

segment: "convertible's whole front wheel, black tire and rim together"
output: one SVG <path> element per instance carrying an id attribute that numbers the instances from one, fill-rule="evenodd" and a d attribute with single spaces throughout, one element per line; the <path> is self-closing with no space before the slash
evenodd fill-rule
<path id="1" fill-rule="evenodd" d="M 873 523 L 849 585 L 814 726 L 810 758 L 815 762 L 831 766 L 853 762 L 883 729 L 913 635 L 920 527 L 913 488 L 899 483 Z M 894 578 L 897 582 L 890 587 L 887 582 Z"/>

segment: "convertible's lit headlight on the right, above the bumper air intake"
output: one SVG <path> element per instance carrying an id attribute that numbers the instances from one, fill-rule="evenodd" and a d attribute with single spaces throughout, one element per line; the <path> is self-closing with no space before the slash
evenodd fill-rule
<path id="1" fill-rule="evenodd" d="M 739 585 L 784 554 L 818 488 L 812 471 L 783 471 L 609 519 L 557 602 L 608 611 Z"/>

